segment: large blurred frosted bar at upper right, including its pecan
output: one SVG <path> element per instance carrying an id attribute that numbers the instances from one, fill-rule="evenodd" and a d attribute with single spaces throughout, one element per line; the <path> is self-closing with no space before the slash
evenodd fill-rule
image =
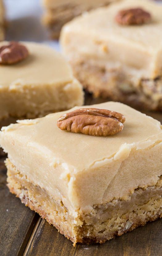
<path id="1" fill-rule="evenodd" d="M 94 97 L 162 111 L 162 5 L 124 0 L 77 17 L 61 33 L 74 75 Z"/>

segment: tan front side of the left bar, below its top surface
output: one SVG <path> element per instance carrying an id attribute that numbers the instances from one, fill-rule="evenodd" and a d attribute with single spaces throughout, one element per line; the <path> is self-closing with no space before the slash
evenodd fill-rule
<path id="1" fill-rule="evenodd" d="M 77 80 L 58 84 L 17 84 L 0 87 L 0 119 L 36 118 L 69 109 L 83 103 L 81 84 Z"/>

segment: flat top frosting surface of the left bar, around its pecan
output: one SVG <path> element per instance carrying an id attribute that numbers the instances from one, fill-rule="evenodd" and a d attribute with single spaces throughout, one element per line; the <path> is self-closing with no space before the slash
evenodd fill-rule
<path id="1" fill-rule="evenodd" d="M 0 65 L 0 89 L 16 84 L 44 85 L 73 80 L 72 70 L 60 53 L 43 44 L 22 43 L 30 56 L 15 65 Z M 7 42 L 1 42 L 0 47 L 4 44 Z"/>

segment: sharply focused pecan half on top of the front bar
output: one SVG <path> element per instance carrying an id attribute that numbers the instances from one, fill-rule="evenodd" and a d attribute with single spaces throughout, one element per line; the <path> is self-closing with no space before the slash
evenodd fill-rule
<path id="1" fill-rule="evenodd" d="M 81 132 L 93 136 L 114 135 L 123 130 L 125 117 L 115 111 L 82 108 L 62 115 L 57 126 L 68 132 Z"/>

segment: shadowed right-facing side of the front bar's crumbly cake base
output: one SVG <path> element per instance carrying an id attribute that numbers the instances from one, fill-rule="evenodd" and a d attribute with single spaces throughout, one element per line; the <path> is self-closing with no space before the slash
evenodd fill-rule
<path id="1" fill-rule="evenodd" d="M 161 217 L 162 177 L 156 186 L 136 189 L 129 200 L 113 200 L 93 206 L 90 214 L 81 216 L 83 225 L 79 232 L 83 242 L 103 243 Z"/>

